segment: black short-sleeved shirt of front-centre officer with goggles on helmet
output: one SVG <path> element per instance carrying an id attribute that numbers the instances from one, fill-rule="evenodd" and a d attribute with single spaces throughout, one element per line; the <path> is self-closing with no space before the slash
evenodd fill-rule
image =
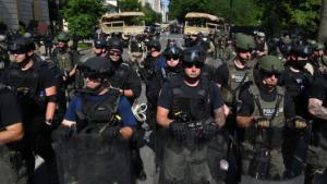
<path id="1" fill-rule="evenodd" d="M 181 79 L 181 78 L 180 78 Z M 162 107 L 165 109 L 171 109 L 171 98 L 172 98 L 172 91 L 171 91 L 171 84 L 166 83 L 161 89 L 160 96 L 159 96 L 159 100 L 158 100 L 158 107 Z M 201 85 L 201 84 L 199 84 Z M 181 85 L 181 89 L 182 91 L 185 91 L 185 96 L 192 96 L 194 94 L 197 94 L 198 90 L 202 89 L 201 86 L 196 86 L 196 87 L 191 87 L 187 86 L 185 83 L 182 83 Z M 223 99 L 221 96 L 221 93 L 218 88 L 217 85 L 215 85 L 214 83 L 210 83 L 210 85 L 213 86 L 210 89 L 210 94 L 209 96 L 211 97 L 211 108 L 218 109 L 223 105 Z"/>

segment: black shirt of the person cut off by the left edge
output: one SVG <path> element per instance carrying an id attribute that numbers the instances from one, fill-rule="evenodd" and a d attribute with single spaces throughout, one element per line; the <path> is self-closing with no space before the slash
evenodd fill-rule
<path id="1" fill-rule="evenodd" d="M 8 88 L 0 89 L 0 123 L 9 126 L 22 122 L 20 105 L 15 95 Z"/>

